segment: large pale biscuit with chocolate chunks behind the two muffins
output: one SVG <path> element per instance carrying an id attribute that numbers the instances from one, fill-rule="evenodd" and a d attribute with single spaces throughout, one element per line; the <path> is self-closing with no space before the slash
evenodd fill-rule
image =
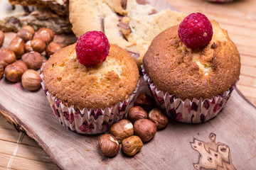
<path id="1" fill-rule="evenodd" d="M 69 9 L 77 37 L 90 30 L 101 30 L 110 43 L 130 52 L 139 68 L 151 40 L 185 17 L 170 9 L 158 11 L 136 0 L 70 0 Z"/>

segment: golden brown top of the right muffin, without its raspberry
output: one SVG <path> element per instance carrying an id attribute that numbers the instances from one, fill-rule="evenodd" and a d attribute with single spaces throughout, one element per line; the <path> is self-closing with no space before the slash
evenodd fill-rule
<path id="1" fill-rule="evenodd" d="M 161 91 L 177 98 L 212 98 L 238 80 L 240 54 L 226 30 L 211 21 L 213 38 L 206 47 L 187 48 L 178 38 L 178 26 L 156 36 L 144 55 L 146 74 Z"/>

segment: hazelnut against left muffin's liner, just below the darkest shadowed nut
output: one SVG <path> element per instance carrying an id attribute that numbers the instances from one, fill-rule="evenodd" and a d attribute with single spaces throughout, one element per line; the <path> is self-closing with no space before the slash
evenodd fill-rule
<path id="1" fill-rule="evenodd" d="M 132 108 L 129 108 L 127 116 L 128 119 L 131 120 L 132 123 L 134 123 L 136 120 L 148 118 L 148 113 L 144 111 L 142 107 L 134 106 Z"/>

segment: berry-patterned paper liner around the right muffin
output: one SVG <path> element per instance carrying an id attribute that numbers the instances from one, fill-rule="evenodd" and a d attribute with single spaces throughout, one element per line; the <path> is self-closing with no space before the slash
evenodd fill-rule
<path id="1" fill-rule="evenodd" d="M 213 96 L 213 98 L 205 99 L 200 98 L 199 100 L 193 98 L 190 101 L 188 98 L 182 101 L 181 98 L 176 98 L 174 94 L 164 93 L 154 86 L 153 81 L 149 78 L 142 65 L 142 74 L 144 80 L 147 82 L 152 95 L 155 98 L 156 104 L 166 111 L 166 115 L 169 118 L 173 118 L 178 122 L 182 123 L 203 123 L 211 118 L 214 118 L 227 103 L 228 98 L 235 89 L 238 81 L 225 91 L 223 94 Z"/>

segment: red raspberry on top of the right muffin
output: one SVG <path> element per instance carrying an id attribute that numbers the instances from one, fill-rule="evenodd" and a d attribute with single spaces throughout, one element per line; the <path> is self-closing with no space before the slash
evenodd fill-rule
<path id="1" fill-rule="evenodd" d="M 180 23 L 178 37 L 188 48 L 204 47 L 213 37 L 213 26 L 203 13 L 191 13 Z"/>

